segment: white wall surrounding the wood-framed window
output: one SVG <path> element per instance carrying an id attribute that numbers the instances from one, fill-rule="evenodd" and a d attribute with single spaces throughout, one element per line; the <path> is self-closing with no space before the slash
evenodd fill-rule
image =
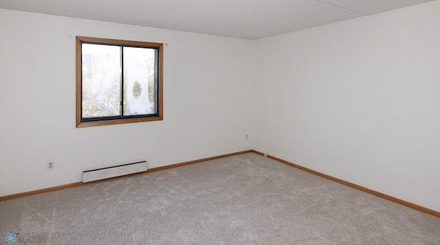
<path id="1" fill-rule="evenodd" d="M 76 129 L 76 35 L 168 43 L 164 120 Z M 250 149 L 251 44 L 0 9 L 0 196 L 80 182 L 89 169 Z"/>

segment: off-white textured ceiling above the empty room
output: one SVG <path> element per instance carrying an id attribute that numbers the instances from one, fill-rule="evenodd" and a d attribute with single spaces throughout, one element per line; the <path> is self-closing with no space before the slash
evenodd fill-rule
<path id="1" fill-rule="evenodd" d="M 259 39 L 433 0 L 0 0 L 0 8 Z"/>

